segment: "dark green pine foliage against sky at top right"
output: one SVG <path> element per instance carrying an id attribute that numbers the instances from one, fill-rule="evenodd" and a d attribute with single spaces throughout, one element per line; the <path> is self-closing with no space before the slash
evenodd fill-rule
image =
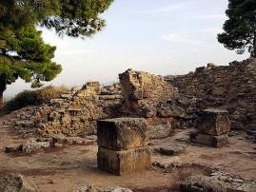
<path id="1" fill-rule="evenodd" d="M 256 57 L 256 1 L 229 0 L 226 15 L 225 32 L 218 34 L 218 41 L 239 54 L 247 49 Z"/>

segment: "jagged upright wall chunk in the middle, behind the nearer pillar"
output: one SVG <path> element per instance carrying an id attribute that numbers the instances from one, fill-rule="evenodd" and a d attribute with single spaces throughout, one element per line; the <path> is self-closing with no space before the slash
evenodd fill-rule
<path id="1" fill-rule="evenodd" d="M 167 113 L 163 104 L 176 96 L 177 90 L 162 76 L 128 69 L 119 74 L 126 116 L 148 120 L 149 138 L 165 138 L 174 129 L 173 114 Z M 163 115 L 164 113 L 164 115 Z"/>

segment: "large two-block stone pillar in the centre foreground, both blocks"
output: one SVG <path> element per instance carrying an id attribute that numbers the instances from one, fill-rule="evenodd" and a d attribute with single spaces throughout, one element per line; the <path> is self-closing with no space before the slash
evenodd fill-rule
<path id="1" fill-rule="evenodd" d="M 148 124 L 141 118 L 98 121 L 98 168 L 126 175 L 151 167 Z"/>

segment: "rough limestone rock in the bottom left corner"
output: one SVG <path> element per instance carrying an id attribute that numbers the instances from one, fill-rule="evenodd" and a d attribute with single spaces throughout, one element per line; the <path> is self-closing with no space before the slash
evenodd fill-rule
<path id="1" fill-rule="evenodd" d="M 0 174 L 1 192 L 37 192 L 21 174 Z"/>

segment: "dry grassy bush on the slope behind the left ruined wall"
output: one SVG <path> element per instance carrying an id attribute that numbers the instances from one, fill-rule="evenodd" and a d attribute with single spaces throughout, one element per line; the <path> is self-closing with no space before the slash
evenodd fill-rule
<path id="1" fill-rule="evenodd" d="M 36 90 L 24 90 L 8 101 L 4 106 L 4 112 L 17 110 L 25 106 L 38 106 L 49 102 L 50 99 L 60 98 L 61 93 L 66 93 L 65 86 L 46 86 Z"/>

